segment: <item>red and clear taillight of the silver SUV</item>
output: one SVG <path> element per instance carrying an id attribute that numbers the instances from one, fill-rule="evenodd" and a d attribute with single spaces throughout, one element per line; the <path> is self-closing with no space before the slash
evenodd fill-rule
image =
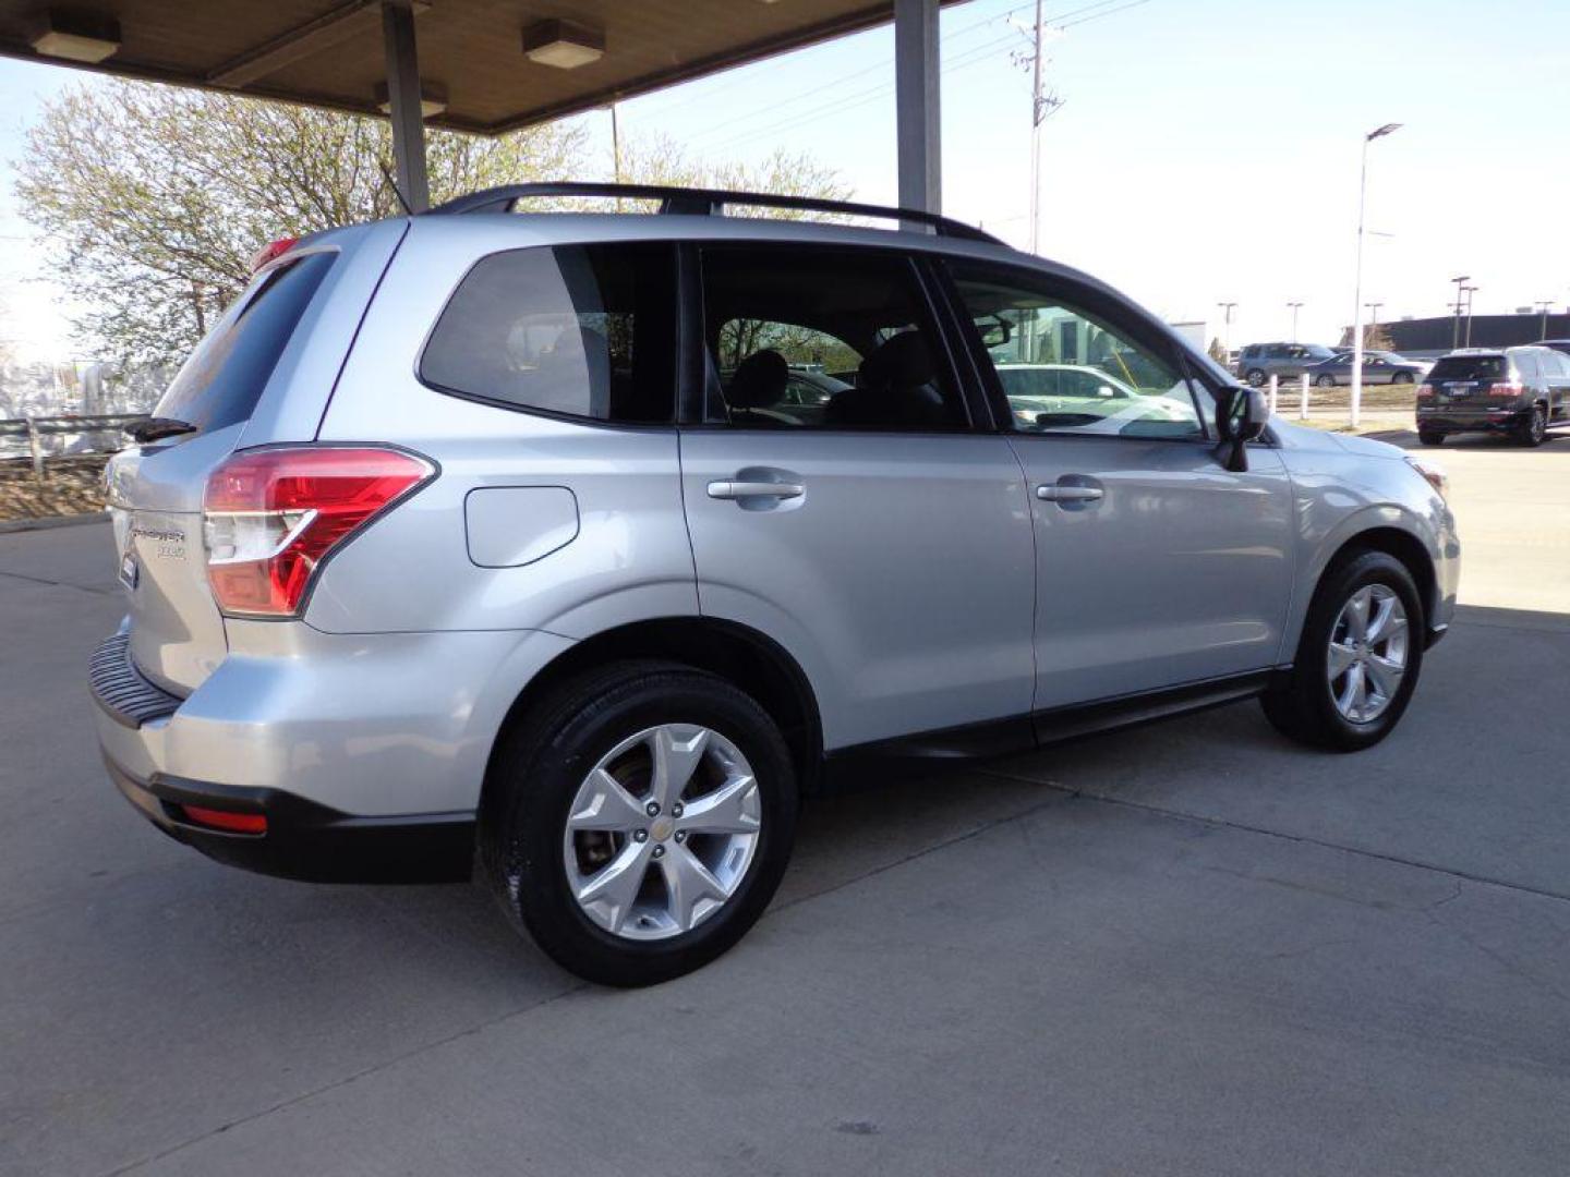
<path id="1" fill-rule="evenodd" d="M 207 479 L 207 582 L 229 617 L 294 617 L 322 562 L 429 482 L 396 449 L 294 446 L 240 452 Z"/>

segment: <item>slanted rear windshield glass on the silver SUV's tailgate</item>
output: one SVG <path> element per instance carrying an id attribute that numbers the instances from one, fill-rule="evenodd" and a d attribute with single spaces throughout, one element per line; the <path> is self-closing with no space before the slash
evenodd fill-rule
<path id="1" fill-rule="evenodd" d="M 188 421 L 203 432 L 250 421 L 336 256 L 306 254 L 256 279 L 236 300 L 240 312 L 232 315 L 232 308 L 225 312 L 176 374 L 152 414 Z"/>

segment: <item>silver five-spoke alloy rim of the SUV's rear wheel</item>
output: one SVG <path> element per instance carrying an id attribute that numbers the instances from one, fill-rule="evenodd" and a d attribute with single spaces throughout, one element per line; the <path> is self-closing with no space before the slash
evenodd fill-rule
<path id="1" fill-rule="evenodd" d="M 661 723 L 623 739 L 579 785 L 562 835 L 567 885 L 612 935 L 681 935 L 736 893 L 761 821 L 735 744 L 697 723 Z"/>

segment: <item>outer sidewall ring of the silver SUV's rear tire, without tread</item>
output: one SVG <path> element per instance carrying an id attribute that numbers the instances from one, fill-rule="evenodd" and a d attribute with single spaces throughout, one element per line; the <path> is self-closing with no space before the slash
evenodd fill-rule
<path id="1" fill-rule="evenodd" d="M 600 927 L 571 896 L 565 862 L 567 814 L 584 777 L 628 736 L 661 723 L 700 723 L 735 744 L 758 782 L 758 844 L 738 890 L 691 932 L 628 940 Z M 730 948 L 758 920 L 783 876 L 796 825 L 790 752 L 768 714 L 722 680 L 661 672 L 611 687 L 568 714 L 520 764 L 499 830 L 510 899 L 529 934 L 559 964 L 592 981 L 639 986 L 688 973 Z"/>

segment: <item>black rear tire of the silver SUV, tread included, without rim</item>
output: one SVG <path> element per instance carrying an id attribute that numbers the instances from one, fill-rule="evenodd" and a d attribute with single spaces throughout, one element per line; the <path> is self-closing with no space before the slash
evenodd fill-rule
<path id="1" fill-rule="evenodd" d="M 659 723 L 702 723 L 735 744 L 758 782 L 761 822 L 752 862 L 724 907 L 688 932 L 630 940 L 578 906 L 562 838 L 598 758 Z M 749 695 L 680 664 L 622 662 L 565 683 L 502 736 L 480 808 L 480 873 L 515 926 L 562 968 L 604 986 L 650 986 L 706 965 L 758 921 L 785 874 L 796 808 L 790 750 Z"/>

